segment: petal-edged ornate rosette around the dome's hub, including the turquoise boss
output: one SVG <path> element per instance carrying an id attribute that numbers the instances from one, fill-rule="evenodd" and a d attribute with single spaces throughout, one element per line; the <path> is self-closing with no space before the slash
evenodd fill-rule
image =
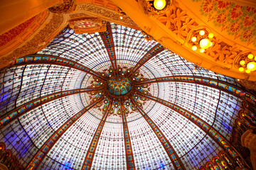
<path id="1" fill-rule="evenodd" d="M 101 91 L 92 91 L 90 93 L 91 101 L 89 103 L 98 101 L 100 96 L 105 96 L 105 99 L 97 103 L 97 108 L 100 111 L 109 110 L 108 116 L 122 117 L 122 111 L 125 115 L 129 115 L 136 111 L 136 107 L 131 102 L 134 99 L 135 105 L 142 107 L 148 101 L 145 97 L 138 95 L 137 91 L 142 94 L 149 93 L 149 84 L 136 84 L 138 81 L 144 81 L 143 74 L 140 70 L 131 74 L 131 70 L 126 67 L 117 67 L 117 69 L 106 69 L 105 72 L 98 72 L 102 75 L 102 79 L 92 77 L 92 81 L 86 86 L 87 88 L 100 88 Z M 112 101 L 112 106 L 108 105 Z M 88 102 L 88 101 L 86 101 Z"/>

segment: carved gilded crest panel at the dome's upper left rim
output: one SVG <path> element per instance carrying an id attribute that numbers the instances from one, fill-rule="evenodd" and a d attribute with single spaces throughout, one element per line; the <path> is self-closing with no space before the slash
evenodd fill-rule
<path id="1" fill-rule="evenodd" d="M 96 33 L 106 31 L 106 22 L 98 18 L 87 19 L 80 18 L 73 21 L 69 21 L 70 28 L 75 30 L 76 34 L 80 33 Z"/>

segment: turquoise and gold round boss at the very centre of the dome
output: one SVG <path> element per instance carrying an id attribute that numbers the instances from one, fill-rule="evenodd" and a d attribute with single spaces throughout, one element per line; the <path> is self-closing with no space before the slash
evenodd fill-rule
<path id="1" fill-rule="evenodd" d="M 114 95 L 127 94 L 132 89 L 132 82 L 126 77 L 112 77 L 107 81 L 107 90 Z"/>

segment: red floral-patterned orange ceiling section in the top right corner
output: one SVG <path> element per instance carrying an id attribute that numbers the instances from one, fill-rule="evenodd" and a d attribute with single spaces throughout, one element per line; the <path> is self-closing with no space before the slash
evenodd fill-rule
<path id="1" fill-rule="evenodd" d="M 227 0 L 192 0 L 200 5 L 201 17 L 230 39 L 256 47 L 256 8 L 240 6 Z"/>

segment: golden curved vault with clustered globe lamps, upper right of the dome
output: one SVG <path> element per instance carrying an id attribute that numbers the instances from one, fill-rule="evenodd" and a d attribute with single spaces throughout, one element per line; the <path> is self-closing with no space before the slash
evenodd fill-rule
<path id="1" fill-rule="evenodd" d="M 256 80 L 255 72 L 238 71 L 240 60 L 246 59 L 248 54 L 256 55 L 255 2 L 170 1 L 170 6 L 161 13 L 143 0 L 112 1 L 154 40 L 186 60 L 229 77 Z M 204 52 L 199 52 L 200 46 L 191 41 L 199 30 L 214 35 L 213 45 Z M 198 50 L 191 49 L 195 44 Z"/>

